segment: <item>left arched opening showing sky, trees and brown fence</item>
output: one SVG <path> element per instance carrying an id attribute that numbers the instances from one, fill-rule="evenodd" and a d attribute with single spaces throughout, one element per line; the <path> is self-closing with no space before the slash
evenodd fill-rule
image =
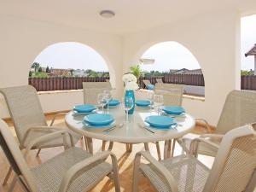
<path id="1" fill-rule="evenodd" d="M 108 64 L 87 45 L 64 42 L 52 44 L 33 61 L 29 84 L 38 91 L 78 90 L 82 82 L 109 80 Z"/>

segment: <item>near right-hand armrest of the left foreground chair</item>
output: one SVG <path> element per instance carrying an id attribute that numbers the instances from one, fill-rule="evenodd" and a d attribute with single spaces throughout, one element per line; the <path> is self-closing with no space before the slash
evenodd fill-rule
<path id="1" fill-rule="evenodd" d="M 117 163 L 116 156 L 110 151 L 103 151 L 101 153 L 95 154 L 87 158 L 86 160 L 82 160 L 76 165 L 72 166 L 66 172 L 65 176 L 62 178 L 59 192 L 67 191 L 70 184 L 73 182 L 73 178 L 77 177 L 77 174 L 79 174 L 82 169 L 84 169 L 87 166 L 90 166 L 91 164 L 95 163 L 97 160 L 107 159 L 109 155 L 111 156 L 111 160 L 112 160 L 113 172 L 118 172 L 118 163 Z"/>

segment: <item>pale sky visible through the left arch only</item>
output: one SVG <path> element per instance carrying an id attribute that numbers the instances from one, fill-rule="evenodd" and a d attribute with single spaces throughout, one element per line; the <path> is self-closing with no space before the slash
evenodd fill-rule
<path id="1" fill-rule="evenodd" d="M 92 69 L 107 72 L 102 55 L 87 45 L 67 42 L 50 45 L 35 59 L 42 67 Z"/>

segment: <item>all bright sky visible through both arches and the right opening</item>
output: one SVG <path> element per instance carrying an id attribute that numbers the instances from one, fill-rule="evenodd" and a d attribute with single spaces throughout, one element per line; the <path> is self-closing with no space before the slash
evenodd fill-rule
<path id="1" fill-rule="evenodd" d="M 241 18 L 241 69 L 254 68 L 253 56 L 245 53 L 256 44 L 256 15 Z M 145 71 L 158 70 L 167 72 L 170 69 L 201 68 L 189 49 L 176 42 L 155 44 L 142 55 L 142 58 L 154 59 L 154 65 L 142 65 Z M 92 69 L 108 71 L 108 66 L 95 49 L 87 45 L 67 42 L 50 45 L 35 59 L 43 67 Z"/>

